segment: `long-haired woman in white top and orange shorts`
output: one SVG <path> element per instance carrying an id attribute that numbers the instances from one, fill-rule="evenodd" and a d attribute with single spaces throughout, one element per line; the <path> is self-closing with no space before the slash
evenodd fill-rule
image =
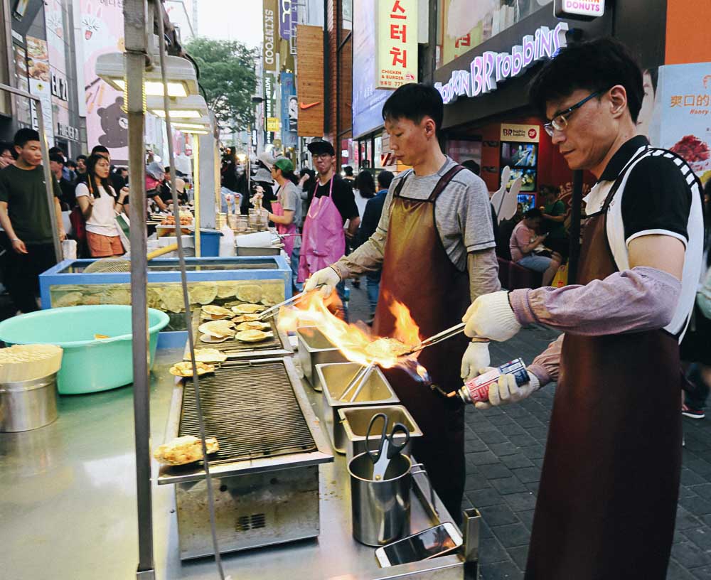
<path id="1" fill-rule="evenodd" d="M 76 189 L 77 203 L 87 228 L 87 243 L 92 257 L 105 258 L 125 253 L 119 237 L 116 215 L 121 213 L 129 193 L 123 188 L 117 195 L 109 182 L 109 161 L 92 155 L 87 159 L 86 181 Z"/>

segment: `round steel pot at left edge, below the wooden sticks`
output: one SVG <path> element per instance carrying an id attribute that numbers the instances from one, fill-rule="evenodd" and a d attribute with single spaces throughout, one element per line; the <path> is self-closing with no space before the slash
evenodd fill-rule
<path id="1" fill-rule="evenodd" d="M 29 431 L 57 419 L 57 373 L 0 384 L 0 431 Z"/>

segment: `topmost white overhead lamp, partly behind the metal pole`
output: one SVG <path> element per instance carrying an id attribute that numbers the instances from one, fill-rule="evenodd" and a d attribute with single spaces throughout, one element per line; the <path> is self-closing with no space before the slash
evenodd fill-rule
<path id="1" fill-rule="evenodd" d="M 154 59 L 154 62 L 158 62 Z M 124 53 L 106 53 L 99 55 L 95 65 L 96 74 L 115 90 L 126 89 L 126 65 Z M 166 78 L 169 97 L 187 97 L 198 95 L 198 77 L 195 67 L 187 58 L 166 56 Z M 154 66 L 144 72 L 146 96 L 162 97 L 163 77 L 161 68 Z"/>

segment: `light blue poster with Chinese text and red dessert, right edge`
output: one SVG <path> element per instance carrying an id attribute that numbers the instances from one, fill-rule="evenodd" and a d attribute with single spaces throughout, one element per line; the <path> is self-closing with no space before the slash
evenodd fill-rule
<path id="1" fill-rule="evenodd" d="M 639 132 L 652 145 L 682 156 L 706 183 L 711 179 L 711 63 L 646 70 L 644 81 Z"/>

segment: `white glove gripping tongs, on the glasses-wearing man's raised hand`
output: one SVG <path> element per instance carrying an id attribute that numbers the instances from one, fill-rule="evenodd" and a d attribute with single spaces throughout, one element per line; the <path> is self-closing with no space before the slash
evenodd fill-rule
<path id="1" fill-rule="evenodd" d="M 466 322 L 464 334 L 469 338 L 491 338 L 500 343 L 512 338 L 521 329 L 508 303 L 506 290 L 479 296 L 461 321 Z"/>

